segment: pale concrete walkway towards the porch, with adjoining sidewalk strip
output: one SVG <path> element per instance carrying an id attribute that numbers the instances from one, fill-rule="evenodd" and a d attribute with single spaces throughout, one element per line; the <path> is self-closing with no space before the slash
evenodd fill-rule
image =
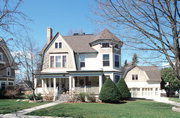
<path id="1" fill-rule="evenodd" d="M 47 107 L 51 107 L 51 106 L 54 106 L 54 105 L 57 105 L 57 104 L 61 104 L 61 103 L 63 103 L 63 102 L 62 101 L 55 101 L 55 102 L 51 102 L 51 103 L 48 103 L 48 104 L 44 104 L 44 105 L 40 105 L 40 106 L 24 109 L 24 110 L 13 112 L 13 113 L 9 113 L 9 114 L 0 114 L 0 118 L 63 118 L 63 117 L 28 116 L 28 115 L 25 115 L 25 114 L 30 113 L 32 111 L 43 109 L 43 108 L 47 108 Z"/>

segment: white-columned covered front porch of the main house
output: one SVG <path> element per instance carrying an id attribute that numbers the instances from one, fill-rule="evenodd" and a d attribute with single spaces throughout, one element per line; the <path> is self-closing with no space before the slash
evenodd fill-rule
<path id="1" fill-rule="evenodd" d="M 53 94 L 54 99 L 59 94 L 81 92 L 99 94 L 102 87 L 102 73 L 73 73 L 54 76 L 53 78 L 41 75 L 35 79 L 36 93 L 43 95 Z"/>

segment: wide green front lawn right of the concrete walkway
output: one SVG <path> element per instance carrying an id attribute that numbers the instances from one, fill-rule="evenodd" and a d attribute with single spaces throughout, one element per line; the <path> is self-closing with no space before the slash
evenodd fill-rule
<path id="1" fill-rule="evenodd" d="M 73 118 L 179 118 L 172 106 L 153 101 L 136 100 L 124 104 L 65 103 L 37 110 L 28 115 Z"/>

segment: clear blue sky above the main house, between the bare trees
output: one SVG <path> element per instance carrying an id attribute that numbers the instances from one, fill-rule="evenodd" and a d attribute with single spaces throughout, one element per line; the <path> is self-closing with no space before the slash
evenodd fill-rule
<path id="1" fill-rule="evenodd" d="M 56 32 L 68 35 L 70 31 L 78 30 L 92 34 L 109 28 L 95 22 L 96 16 L 92 12 L 96 10 L 95 6 L 95 0 L 24 0 L 20 10 L 32 19 L 32 22 L 26 24 L 29 28 L 28 33 L 42 49 L 47 41 L 48 27 L 53 28 L 53 35 Z M 122 37 L 119 39 L 123 40 Z M 125 60 L 130 62 L 134 53 L 136 52 L 126 50 L 123 46 L 121 63 Z"/>

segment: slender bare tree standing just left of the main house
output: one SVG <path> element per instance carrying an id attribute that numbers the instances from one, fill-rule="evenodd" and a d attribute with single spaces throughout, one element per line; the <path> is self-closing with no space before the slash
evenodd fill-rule
<path id="1" fill-rule="evenodd" d="M 41 58 L 35 41 L 30 38 L 16 41 L 16 61 L 19 63 L 19 69 L 24 74 L 24 82 L 32 89 L 35 100 L 35 73 L 39 70 Z"/>

